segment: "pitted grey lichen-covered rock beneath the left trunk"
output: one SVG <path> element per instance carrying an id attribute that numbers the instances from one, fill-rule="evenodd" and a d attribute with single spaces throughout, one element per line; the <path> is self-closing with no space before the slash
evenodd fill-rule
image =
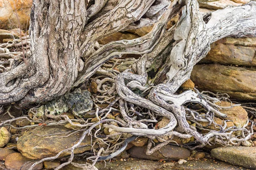
<path id="1" fill-rule="evenodd" d="M 90 98 L 90 92 L 82 91 L 80 88 L 77 88 L 72 93 L 66 94 L 42 105 L 37 109 L 36 116 L 44 115 L 45 110 L 52 115 L 58 115 L 71 110 L 74 115 L 82 117 L 92 108 L 93 101 Z"/>

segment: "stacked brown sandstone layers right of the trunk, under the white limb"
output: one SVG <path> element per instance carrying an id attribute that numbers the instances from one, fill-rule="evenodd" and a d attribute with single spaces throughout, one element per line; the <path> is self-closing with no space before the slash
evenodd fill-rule
<path id="1" fill-rule="evenodd" d="M 211 45 L 191 79 L 200 90 L 256 100 L 256 38 L 224 38 Z"/>

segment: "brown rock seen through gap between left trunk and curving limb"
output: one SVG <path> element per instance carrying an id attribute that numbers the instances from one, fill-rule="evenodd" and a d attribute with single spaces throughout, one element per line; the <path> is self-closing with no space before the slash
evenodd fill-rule
<path id="1" fill-rule="evenodd" d="M 108 42 L 111 41 L 118 41 L 118 40 L 132 40 L 135 38 L 139 38 L 138 35 L 136 34 L 131 34 L 131 33 L 127 33 L 127 32 L 116 32 L 108 37 L 105 37 L 101 40 L 99 40 L 99 44 L 108 44 Z"/>

